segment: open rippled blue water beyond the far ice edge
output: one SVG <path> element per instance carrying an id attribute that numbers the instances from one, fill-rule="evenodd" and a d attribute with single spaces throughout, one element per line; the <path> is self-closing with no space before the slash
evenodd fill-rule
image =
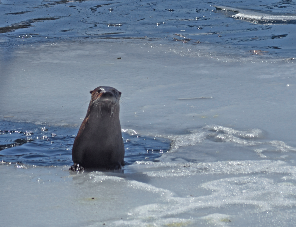
<path id="1" fill-rule="evenodd" d="M 0 47 L 77 39 L 143 39 L 210 45 L 290 57 L 295 20 L 251 19 L 214 5 L 251 9 L 253 14 L 296 15 L 291 0 L 280 1 L 0 1 Z M 253 11 L 252 11 L 253 10 Z M 260 10 L 260 11 L 258 11 Z M 271 22 L 271 23 L 268 23 Z"/>

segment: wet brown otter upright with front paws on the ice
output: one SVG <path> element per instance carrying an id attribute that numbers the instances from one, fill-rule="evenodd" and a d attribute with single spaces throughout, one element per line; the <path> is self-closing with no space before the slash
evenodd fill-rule
<path id="1" fill-rule="evenodd" d="M 124 164 L 124 145 L 119 121 L 121 92 L 100 86 L 90 91 L 91 101 L 72 147 L 74 165 L 84 168 L 120 169 Z"/>

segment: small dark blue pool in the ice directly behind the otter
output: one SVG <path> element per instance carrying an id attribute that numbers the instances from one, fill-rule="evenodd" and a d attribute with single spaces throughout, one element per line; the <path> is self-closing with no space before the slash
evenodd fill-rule
<path id="1" fill-rule="evenodd" d="M 35 166 L 72 165 L 78 128 L 0 121 L 0 161 Z M 162 138 L 123 133 L 125 163 L 155 160 L 170 148 Z"/>

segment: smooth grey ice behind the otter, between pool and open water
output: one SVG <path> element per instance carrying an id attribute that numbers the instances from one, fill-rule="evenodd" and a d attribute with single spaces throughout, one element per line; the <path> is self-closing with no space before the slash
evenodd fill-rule
<path id="1" fill-rule="evenodd" d="M 294 60 L 207 51 L 89 41 L 16 48 L 1 64 L 1 116 L 79 125 L 89 90 L 109 85 L 123 93 L 123 129 L 155 135 L 223 124 L 292 141 L 295 124 L 287 119 L 294 116 Z M 178 99 L 201 96 L 213 98 Z"/>

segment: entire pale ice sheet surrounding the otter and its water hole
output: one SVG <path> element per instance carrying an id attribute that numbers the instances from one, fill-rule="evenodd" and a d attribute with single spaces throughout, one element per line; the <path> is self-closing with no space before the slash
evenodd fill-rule
<path id="1" fill-rule="evenodd" d="M 4 164 L 1 224 L 293 226 L 294 60 L 224 50 L 86 41 L 6 52 L 1 119 L 79 125 L 89 90 L 112 86 L 122 128 L 172 150 L 124 173 Z M 213 98 L 178 100 L 201 96 Z"/>

